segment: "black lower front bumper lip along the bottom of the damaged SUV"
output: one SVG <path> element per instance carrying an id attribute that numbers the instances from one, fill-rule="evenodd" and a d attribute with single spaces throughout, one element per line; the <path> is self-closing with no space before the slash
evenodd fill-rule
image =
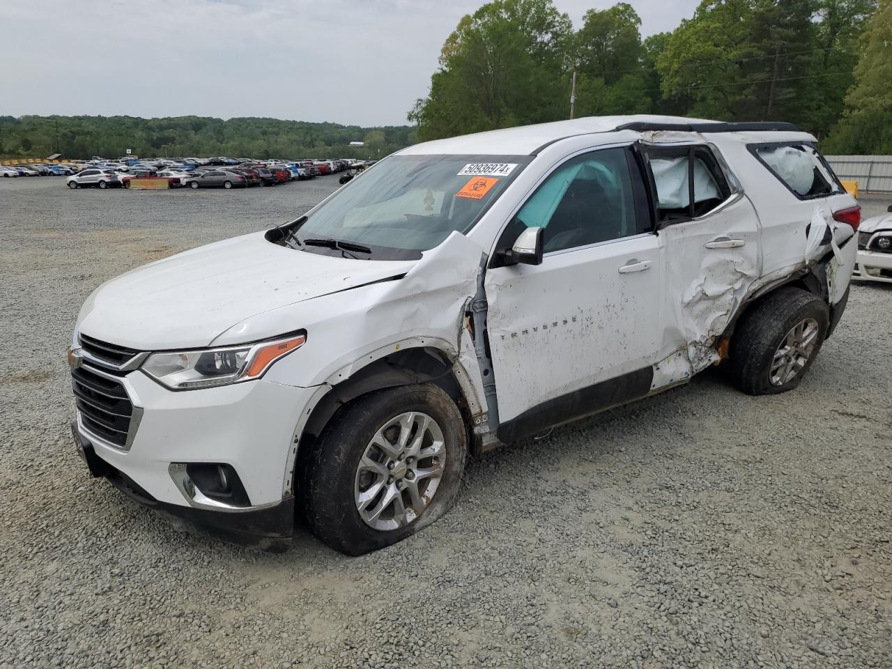
<path id="1" fill-rule="evenodd" d="M 227 541 L 268 550 L 282 550 L 287 547 L 286 540 L 291 537 L 294 526 L 293 495 L 276 504 L 239 513 L 223 513 L 205 508 L 169 504 L 156 500 L 132 478 L 100 458 L 96 454 L 93 442 L 80 431 L 77 420 L 71 423 L 71 432 L 74 434 L 78 455 L 87 463 L 90 474 L 96 477 L 103 476 L 131 500 L 153 508 L 185 524 L 189 529 L 209 530 Z"/>

